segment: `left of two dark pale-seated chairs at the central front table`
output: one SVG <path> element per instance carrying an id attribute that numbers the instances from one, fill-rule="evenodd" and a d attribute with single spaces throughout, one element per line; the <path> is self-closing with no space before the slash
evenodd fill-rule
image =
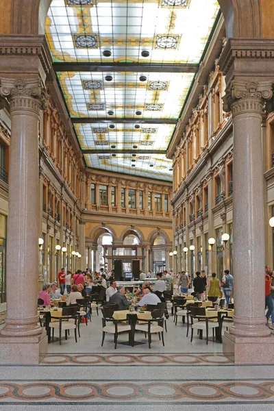
<path id="1" fill-rule="evenodd" d="M 115 344 L 115 349 L 116 349 L 118 334 L 120 332 L 130 333 L 132 331 L 132 327 L 129 324 L 129 320 L 123 320 L 123 322 L 120 322 L 119 320 L 114 320 L 113 313 L 115 310 L 113 308 L 110 308 L 109 306 L 104 306 L 103 308 L 101 308 L 101 311 L 103 314 L 103 318 L 102 318 L 103 336 L 102 336 L 101 347 L 103 347 L 103 341 L 105 340 L 105 333 L 109 332 L 110 334 L 114 334 L 114 344 Z"/>

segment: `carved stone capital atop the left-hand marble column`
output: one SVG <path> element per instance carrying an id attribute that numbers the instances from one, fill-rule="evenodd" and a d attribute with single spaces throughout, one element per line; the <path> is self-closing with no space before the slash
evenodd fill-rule
<path id="1" fill-rule="evenodd" d="M 38 79 L 0 78 L 0 97 L 10 101 L 10 110 L 27 110 L 39 113 L 47 108 L 48 95 Z"/>

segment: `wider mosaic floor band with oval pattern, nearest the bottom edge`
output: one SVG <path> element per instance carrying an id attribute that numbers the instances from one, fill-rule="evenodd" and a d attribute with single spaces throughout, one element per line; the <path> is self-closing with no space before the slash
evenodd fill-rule
<path id="1" fill-rule="evenodd" d="M 15 400 L 15 401 L 14 401 Z M 69 401 L 70 403 L 274 403 L 274 379 L 258 382 L 1 382 L 0 405 L 27 401 Z"/>

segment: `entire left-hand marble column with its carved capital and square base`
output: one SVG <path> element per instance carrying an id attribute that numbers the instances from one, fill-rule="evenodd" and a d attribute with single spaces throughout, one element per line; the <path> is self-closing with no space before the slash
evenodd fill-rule
<path id="1" fill-rule="evenodd" d="M 0 331 L 1 364 L 37 364 L 47 353 L 38 325 L 38 121 L 45 92 L 40 79 L 0 79 L 10 101 L 11 145 L 7 234 L 7 316 Z M 18 271 L 18 267 L 20 270 Z M 23 298 L 14 284 L 20 283 Z"/>

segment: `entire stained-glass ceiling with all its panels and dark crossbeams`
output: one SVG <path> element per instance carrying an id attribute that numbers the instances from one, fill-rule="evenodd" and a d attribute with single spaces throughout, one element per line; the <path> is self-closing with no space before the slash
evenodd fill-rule
<path id="1" fill-rule="evenodd" d="M 87 166 L 171 181 L 164 153 L 218 12 L 216 0 L 52 1 L 47 40 Z"/>

